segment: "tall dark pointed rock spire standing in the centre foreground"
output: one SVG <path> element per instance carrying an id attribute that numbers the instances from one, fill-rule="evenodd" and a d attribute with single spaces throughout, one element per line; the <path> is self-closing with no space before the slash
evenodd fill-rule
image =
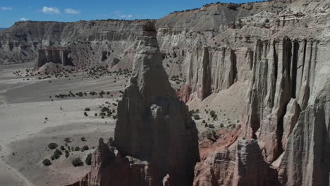
<path id="1" fill-rule="evenodd" d="M 114 142 L 108 147 L 100 141 L 88 185 L 193 183 L 200 159 L 197 129 L 169 84 L 156 31 L 148 24 L 139 37 L 130 85 L 118 102 Z"/>

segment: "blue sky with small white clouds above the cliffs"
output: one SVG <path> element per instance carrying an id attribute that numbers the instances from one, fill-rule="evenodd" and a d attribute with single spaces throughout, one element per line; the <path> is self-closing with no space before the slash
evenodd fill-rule
<path id="1" fill-rule="evenodd" d="M 78 21 L 94 19 L 161 18 L 173 11 L 198 8 L 211 0 L 1 0 L 0 27 L 19 20 Z M 251 0 L 222 0 L 243 3 Z"/>

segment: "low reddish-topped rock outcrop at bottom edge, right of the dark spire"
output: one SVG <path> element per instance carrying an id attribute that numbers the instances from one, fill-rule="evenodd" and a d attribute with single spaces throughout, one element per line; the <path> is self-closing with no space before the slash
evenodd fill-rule
<path id="1" fill-rule="evenodd" d="M 238 140 L 197 163 L 194 185 L 278 185 L 277 171 L 264 162 L 256 140 Z"/>

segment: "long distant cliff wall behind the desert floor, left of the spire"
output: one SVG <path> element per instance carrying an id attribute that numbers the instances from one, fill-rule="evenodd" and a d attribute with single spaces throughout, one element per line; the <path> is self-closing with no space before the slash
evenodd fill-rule
<path id="1" fill-rule="evenodd" d="M 98 63 L 108 64 L 111 68 L 117 64 L 118 68 L 132 68 L 134 46 L 142 32 L 140 25 L 146 22 L 147 20 L 17 22 L 0 32 L 0 63 L 36 61 L 35 66 L 39 68 L 49 62 L 40 62 L 40 52 L 49 56 L 50 51 L 61 53 L 68 50 L 71 63 L 76 68 L 86 68 Z"/>

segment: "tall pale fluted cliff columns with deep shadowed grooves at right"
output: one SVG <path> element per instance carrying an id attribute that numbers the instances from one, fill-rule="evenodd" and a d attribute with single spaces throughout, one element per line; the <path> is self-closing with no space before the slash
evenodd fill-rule
<path id="1" fill-rule="evenodd" d="M 324 85 L 324 75 L 329 75 L 322 73 L 322 69 L 329 68 L 329 62 L 322 58 L 326 48 L 319 45 L 318 41 L 288 37 L 257 42 L 247 106 L 247 136 L 264 143 L 263 154 L 269 163 L 284 151 L 282 138 L 288 137 L 300 110 L 305 110 L 317 94 L 317 87 Z M 291 99 L 295 101 L 289 104 Z M 290 112 L 295 115 L 292 120 L 288 118 Z"/>

